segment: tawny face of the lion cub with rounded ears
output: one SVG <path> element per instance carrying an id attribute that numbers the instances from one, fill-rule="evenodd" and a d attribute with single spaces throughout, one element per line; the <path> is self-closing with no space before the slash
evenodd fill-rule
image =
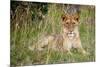
<path id="1" fill-rule="evenodd" d="M 64 27 L 64 32 L 69 37 L 75 36 L 77 27 L 79 25 L 79 16 L 78 15 L 63 15 L 62 16 L 62 25 Z"/>

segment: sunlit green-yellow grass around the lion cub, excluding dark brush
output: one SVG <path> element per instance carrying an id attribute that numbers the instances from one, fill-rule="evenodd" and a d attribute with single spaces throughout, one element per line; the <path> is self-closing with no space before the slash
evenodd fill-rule
<path id="1" fill-rule="evenodd" d="M 29 45 L 34 45 L 38 37 L 45 33 L 61 32 L 62 8 L 56 4 L 49 5 L 45 19 L 32 21 L 32 25 L 25 24 L 11 31 L 11 65 L 37 65 L 55 63 L 76 63 L 95 61 L 95 22 L 94 9 L 81 7 L 80 36 L 84 49 L 90 53 L 88 56 L 72 50 L 73 55 L 54 51 L 30 51 Z M 24 21 L 23 21 L 24 22 Z"/>

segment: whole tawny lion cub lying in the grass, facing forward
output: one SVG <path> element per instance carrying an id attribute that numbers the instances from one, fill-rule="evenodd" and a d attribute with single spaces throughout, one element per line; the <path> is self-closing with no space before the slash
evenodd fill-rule
<path id="1" fill-rule="evenodd" d="M 48 47 L 50 50 L 67 51 L 69 53 L 71 48 L 77 48 L 80 52 L 85 54 L 85 50 L 81 45 L 79 35 L 79 15 L 65 14 L 62 19 L 62 34 L 48 35 L 39 39 L 36 45 L 30 47 L 31 50 L 44 50 Z"/>

